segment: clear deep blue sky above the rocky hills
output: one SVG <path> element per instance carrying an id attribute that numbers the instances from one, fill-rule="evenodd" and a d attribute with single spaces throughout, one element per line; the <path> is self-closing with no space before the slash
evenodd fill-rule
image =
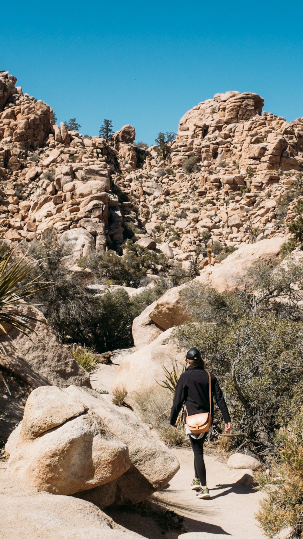
<path id="1" fill-rule="evenodd" d="M 302 17 L 298 1 L 2 2 L 0 68 L 82 134 L 108 118 L 153 143 L 227 90 L 291 121 L 303 116 Z"/>

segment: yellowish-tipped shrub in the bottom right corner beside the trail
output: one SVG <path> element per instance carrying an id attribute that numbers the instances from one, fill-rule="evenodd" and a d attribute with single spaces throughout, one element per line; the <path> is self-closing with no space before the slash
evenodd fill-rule
<path id="1" fill-rule="evenodd" d="M 274 437 L 276 459 L 271 473 L 259 473 L 258 483 L 267 494 L 256 517 L 267 537 L 303 537 L 303 408 Z"/>

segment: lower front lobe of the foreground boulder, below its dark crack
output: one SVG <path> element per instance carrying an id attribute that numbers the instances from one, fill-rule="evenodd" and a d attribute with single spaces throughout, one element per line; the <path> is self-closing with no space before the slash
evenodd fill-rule
<path id="1" fill-rule="evenodd" d="M 5 476 L 53 494 L 73 494 L 114 481 L 129 467 L 125 444 L 105 434 L 101 419 L 88 412 L 32 440 L 20 435 Z"/>

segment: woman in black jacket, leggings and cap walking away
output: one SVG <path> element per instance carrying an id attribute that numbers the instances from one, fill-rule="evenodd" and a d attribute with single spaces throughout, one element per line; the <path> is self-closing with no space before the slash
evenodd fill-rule
<path id="1" fill-rule="evenodd" d="M 225 421 L 225 432 L 228 433 L 231 427 L 231 420 L 217 378 L 214 374 L 210 374 L 205 370 L 201 354 L 196 348 L 191 348 L 191 350 L 188 350 L 186 354 L 186 362 L 188 364 L 188 368 L 181 374 L 175 388 L 170 424 L 176 426 L 175 423 L 178 419 L 179 412 L 182 405 L 185 404 L 186 413 L 188 416 L 209 412 L 212 419 L 211 426 L 208 431 L 212 431 L 214 422 L 213 395 L 215 395 L 216 402 Z M 211 400 L 210 409 L 209 399 Z M 196 497 L 209 498 L 209 489 L 206 484 L 206 469 L 203 459 L 203 443 L 207 436 L 207 432 L 193 434 L 191 430 L 188 429 L 187 425 L 185 427 L 185 432 L 189 435 L 189 440 L 191 441 L 191 446 L 194 452 L 195 476 L 191 483 L 191 488 L 193 490 L 198 490 Z"/>

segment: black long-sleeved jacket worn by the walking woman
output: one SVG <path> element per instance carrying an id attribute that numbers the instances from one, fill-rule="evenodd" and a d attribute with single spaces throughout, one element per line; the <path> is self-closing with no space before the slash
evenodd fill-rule
<path id="1" fill-rule="evenodd" d="M 214 399 L 219 406 L 225 423 L 230 423 L 230 416 L 220 385 L 214 374 L 210 373 L 212 382 L 212 423 L 214 421 Z M 183 372 L 175 388 L 175 395 L 171 410 L 170 424 L 174 425 L 178 419 L 182 405 L 185 403 L 189 416 L 195 413 L 210 412 L 209 410 L 209 378 L 207 371 L 202 367 L 192 367 Z"/>

